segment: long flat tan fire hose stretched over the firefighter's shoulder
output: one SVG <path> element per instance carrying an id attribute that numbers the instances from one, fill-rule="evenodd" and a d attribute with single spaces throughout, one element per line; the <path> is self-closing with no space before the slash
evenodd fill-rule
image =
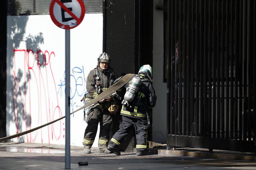
<path id="1" fill-rule="evenodd" d="M 129 80 L 131 80 L 131 78 L 135 76 L 135 74 L 127 74 L 125 76 L 123 76 L 118 82 L 116 82 L 115 84 L 113 84 L 112 86 L 110 86 L 108 89 L 106 89 L 104 92 L 102 92 L 101 94 L 99 94 L 97 97 L 95 97 L 94 99 L 92 99 L 91 101 L 89 101 L 88 103 L 86 103 L 84 106 L 80 107 L 79 109 L 77 109 L 76 111 L 70 113 L 73 114 L 77 111 L 80 111 L 81 109 L 84 109 L 85 107 L 88 107 L 90 105 L 93 105 L 94 103 L 97 103 L 98 101 L 110 96 L 111 94 L 113 94 L 114 92 L 116 92 L 118 89 L 120 89 L 121 87 L 123 87 Z M 0 142 L 3 142 L 3 141 L 7 141 L 9 139 L 13 139 L 15 137 L 19 137 L 19 136 L 22 136 L 22 135 L 26 135 L 27 133 L 30 133 L 30 132 L 33 132 L 35 130 L 38 130 L 38 129 L 41 129 L 45 126 L 48 126 L 50 124 L 53 124 L 63 118 L 65 118 L 66 116 L 63 116 L 61 118 L 58 118 L 56 120 L 53 120 L 51 122 L 48 122 L 46 124 L 43 124 L 41 126 L 38 126 L 36 128 L 33 128 L 33 129 L 30 129 L 30 130 L 27 130 L 27 131 L 24 131 L 24 132 L 20 132 L 20 133 L 16 133 L 15 135 L 11 135 L 11 136 L 7 136 L 7 137 L 3 137 L 0 139 Z"/>

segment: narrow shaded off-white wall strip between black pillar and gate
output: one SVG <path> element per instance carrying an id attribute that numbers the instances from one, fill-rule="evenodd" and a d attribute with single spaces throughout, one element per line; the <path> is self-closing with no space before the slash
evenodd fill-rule
<path id="1" fill-rule="evenodd" d="M 166 90 L 167 84 L 163 82 L 164 66 L 164 28 L 163 11 L 156 10 L 156 5 L 162 6 L 163 1 L 154 0 L 153 5 L 153 86 L 157 101 L 153 108 L 152 137 L 157 143 L 166 143 Z"/>

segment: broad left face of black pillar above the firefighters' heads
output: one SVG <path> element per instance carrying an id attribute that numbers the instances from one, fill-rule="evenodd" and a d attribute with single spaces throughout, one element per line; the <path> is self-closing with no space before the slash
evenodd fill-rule
<path id="1" fill-rule="evenodd" d="M 107 1 L 106 52 L 118 76 L 134 73 L 135 29 L 134 1 Z M 138 62 L 138 61 L 136 61 Z"/>

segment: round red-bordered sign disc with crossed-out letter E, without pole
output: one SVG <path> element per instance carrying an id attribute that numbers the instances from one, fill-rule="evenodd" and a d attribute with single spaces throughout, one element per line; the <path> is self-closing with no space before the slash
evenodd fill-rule
<path id="1" fill-rule="evenodd" d="M 82 0 L 53 0 L 49 10 L 53 23 L 62 29 L 77 27 L 85 14 Z"/>

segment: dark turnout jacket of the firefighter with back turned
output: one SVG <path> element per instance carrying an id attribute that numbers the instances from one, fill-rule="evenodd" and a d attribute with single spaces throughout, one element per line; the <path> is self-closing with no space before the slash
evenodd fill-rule
<path id="1" fill-rule="evenodd" d="M 136 75 L 139 77 L 139 75 Z M 114 82 L 114 84 L 119 81 L 123 76 L 117 78 Z M 128 116 L 132 118 L 139 118 L 139 119 L 146 119 L 148 108 L 154 107 L 156 105 L 156 94 L 155 90 L 152 86 L 152 82 L 148 80 L 147 78 L 141 78 L 141 85 L 139 87 L 139 90 L 137 94 L 135 95 L 133 101 L 129 104 L 131 104 L 131 108 L 126 108 L 122 105 L 121 109 L 121 115 Z M 131 78 L 132 79 L 132 78 Z M 131 83 L 131 80 L 123 86 L 121 89 L 117 91 L 117 94 L 119 96 L 124 96 L 126 89 L 128 88 L 129 84 Z"/>

